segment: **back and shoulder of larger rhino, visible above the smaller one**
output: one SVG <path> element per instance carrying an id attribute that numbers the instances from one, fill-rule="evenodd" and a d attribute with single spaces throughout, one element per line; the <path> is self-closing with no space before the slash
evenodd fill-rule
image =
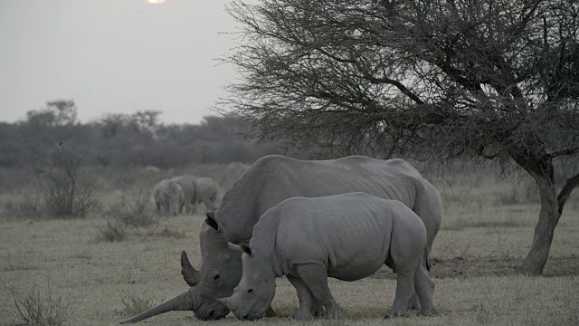
<path id="1" fill-rule="evenodd" d="M 232 241 L 247 241 L 260 216 L 290 197 L 365 192 L 413 207 L 422 180 L 426 181 L 401 159 L 299 160 L 274 155 L 261 158 L 237 179 L 215 214 Z"/>

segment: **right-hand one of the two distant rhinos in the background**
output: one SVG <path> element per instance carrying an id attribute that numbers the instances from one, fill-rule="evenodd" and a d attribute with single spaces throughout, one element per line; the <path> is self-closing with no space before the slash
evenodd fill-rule
<path id="1" fill-rule="evenodd" d="M 172 177 L 171 180 L 181 186 L 185 196 L 185 202 L 181 207 L 183 213 L 195 214 L 196 205 L 204 203 L 208 211 L 216 208 L 217 186 L 211 177 L 195 177 L 183 175 Z"/>

